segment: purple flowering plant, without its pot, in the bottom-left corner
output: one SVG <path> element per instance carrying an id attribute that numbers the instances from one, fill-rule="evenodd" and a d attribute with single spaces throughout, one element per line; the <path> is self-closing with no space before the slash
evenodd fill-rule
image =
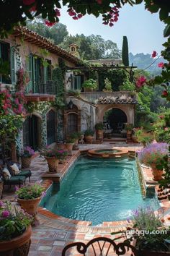
<path id="1" fill-rule="evenodd" d="M 0 242 L 22 235 L 31 223 L 32 216 L 24 210 L 9 201 L 0 201 Z"/>

